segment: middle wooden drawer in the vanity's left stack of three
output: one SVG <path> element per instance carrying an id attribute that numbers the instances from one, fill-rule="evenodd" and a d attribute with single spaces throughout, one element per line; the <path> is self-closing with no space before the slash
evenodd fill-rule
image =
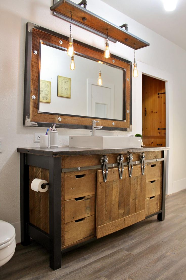
<path id="1" fill-rule="evenodd" d="M 95 195 L 65 201 L 65 223 L 95 214 Z"/>

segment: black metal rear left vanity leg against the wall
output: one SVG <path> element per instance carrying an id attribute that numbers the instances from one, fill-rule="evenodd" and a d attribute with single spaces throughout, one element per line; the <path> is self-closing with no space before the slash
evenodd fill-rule
<path id="1" fill-rule="evenodd" d="M 20 153 L 20 217 L 21 244 L 30 244 L 30 236 L 26 228 L 29 222 L 29 166 L 26 165 L 26 154 Z"/>

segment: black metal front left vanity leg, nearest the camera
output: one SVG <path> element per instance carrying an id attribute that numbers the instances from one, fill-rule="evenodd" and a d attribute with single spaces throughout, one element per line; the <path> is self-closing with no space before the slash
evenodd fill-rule
<path id="1" fill-rule="evenodd" d="M 61 267 L 61 157 L 49 161 L 50 267 Z"/>

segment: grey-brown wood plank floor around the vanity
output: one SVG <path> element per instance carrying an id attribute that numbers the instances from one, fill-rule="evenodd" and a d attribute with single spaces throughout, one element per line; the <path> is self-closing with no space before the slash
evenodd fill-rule
<path id="1" fill-rule="evenodd" d="M 153 216 L 69 251 L 55 271 L 44 248 L 19 244 L 0 279 L 186 280 L 186 190 L 166 197 L 163 222 Z"/>

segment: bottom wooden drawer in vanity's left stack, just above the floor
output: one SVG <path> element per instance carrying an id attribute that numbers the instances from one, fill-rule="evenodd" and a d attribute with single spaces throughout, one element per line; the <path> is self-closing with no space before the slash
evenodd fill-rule
<path id="1" fill-rule="evenodd" d="M 65 223 L 64 225 L 64 246 L 77 241 L 85 241 L 95 236 L 94 215 L 86 217 L 80 221 Z"/>

